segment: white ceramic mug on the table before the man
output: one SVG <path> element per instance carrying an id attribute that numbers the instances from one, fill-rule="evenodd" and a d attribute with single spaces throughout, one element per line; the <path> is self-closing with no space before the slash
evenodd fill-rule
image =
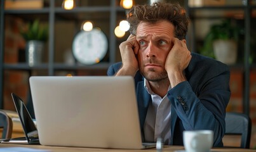
<path id="1" fill-rule="evenodd" d="M 213 146 L 213 131 L 185 130 L 183 143 L 186 152 L 209 152 Z"/>

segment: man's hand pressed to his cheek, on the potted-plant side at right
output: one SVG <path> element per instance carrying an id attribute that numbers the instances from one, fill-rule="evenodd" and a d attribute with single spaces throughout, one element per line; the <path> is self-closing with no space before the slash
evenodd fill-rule
<path id="1" fill-rule="evenodd" d="M 165 69 L 167 73 L 170 72 L 183 72 L 191 61 L 191 52 L 187 49 L 185 40 L 173 39 L 173 47 L 169 52 L 166 62 Z"/>

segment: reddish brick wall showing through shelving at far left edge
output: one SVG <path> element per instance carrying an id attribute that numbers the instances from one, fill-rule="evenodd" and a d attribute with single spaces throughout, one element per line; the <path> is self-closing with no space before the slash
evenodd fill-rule
<path id="1" fill-rule="evenodd" d="M 20 51 L 24 51 L 25 41 L 20 35 L 21 20 L 6 17 L 4 39 L 4 62 L 18 63 Z M 4 109 L 15 110 L 11 92 L 27 101 L 29 73 L 22 70 L 4 70 Z"/>

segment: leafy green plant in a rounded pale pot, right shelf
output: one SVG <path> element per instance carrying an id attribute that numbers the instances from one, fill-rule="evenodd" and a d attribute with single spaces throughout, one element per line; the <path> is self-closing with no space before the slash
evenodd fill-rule
<path id="1" fill-rule="evenodd" d="M 216 58 L 227 65 L 236 63 L 240 31 L 239 27 L 232 25 L 230 19 L 212 25 L 200 53 Z"/>

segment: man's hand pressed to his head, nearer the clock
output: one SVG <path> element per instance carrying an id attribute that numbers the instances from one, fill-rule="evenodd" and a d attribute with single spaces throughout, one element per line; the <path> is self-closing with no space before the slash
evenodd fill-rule
<path id="1" fill-rule="evenodd" d="M 130 73 L 136 73 L 138 71 L 138 42 L 135 35 L 130 35 L 125 42 L 119 45 L 123 67 L 125 70 L 129 70 Z"/>

